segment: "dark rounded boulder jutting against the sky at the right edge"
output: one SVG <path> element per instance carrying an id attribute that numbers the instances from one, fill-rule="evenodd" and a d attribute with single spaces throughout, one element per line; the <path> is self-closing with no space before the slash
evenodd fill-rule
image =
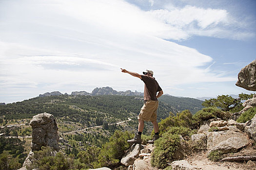
<path id="1" fill-rule="evenodd" d="M 256 91 L 256 60 L 241 69 L 236 85 L 246 90 Z"/>

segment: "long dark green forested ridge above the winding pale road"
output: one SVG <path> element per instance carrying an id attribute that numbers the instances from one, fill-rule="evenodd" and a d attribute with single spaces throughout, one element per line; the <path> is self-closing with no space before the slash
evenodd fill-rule
<path id="1" fill-rule="evenodd" d="M 158 119 L 165 119 L 169 112 L 177 113 L 189 109 L 192 113 L 202 108 L 201 101 L 191 98 L 162 96 L 159 98 Z M 93 118 L 105 116 L 114 119 L 127 119 L 138 114 L 143 105 L 141 96 L 49 96 L 32 98 L 23 102 L 0 105 L 0 115 L 5 119 L 25 119 L 47 112 L 55 117 L 77 115 L 89 125 Z M 74 120 L 75 121 L 75 120 Z"/>

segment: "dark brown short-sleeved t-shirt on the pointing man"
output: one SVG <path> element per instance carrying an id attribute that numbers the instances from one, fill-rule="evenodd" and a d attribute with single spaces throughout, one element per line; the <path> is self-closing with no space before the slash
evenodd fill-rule
<path id="1" fill-rule="evenodd" d="M 161 87 L 154 77 L 141 75 L 141 80 L 145 83 L 144 85 L 144 101 L 152 100 L 157 101 L 157 92 L 161 91 Z"/>

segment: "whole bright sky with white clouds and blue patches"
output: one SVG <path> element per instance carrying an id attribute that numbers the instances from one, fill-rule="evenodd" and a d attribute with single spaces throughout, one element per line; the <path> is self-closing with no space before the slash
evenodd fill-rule
<path id="1" fill-rule="evenodd" d="M 143 92 L 120 68 L 154 71 L 165 94 L 254 93 L 255 0 L 0 0 L 0 102 L 110 86 Z"/>

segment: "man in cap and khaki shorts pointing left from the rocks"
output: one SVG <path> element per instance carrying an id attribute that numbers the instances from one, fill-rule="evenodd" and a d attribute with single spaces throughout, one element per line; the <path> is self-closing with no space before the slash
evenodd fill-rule
<path id="1" fill-rule="evenodd" d="M 144 105 L 141 107 L 138 115 L 138 132 L 135 134 L 134 139 L 127 140 L 129 143 L 141 144 L 141 134 L 144 128 L 144 121 L 151 121 L 153 123 L 155 136 L 149 143 L 154 143 L 159 138 L 159 127 L 157 122 L 158 98 L 163 94 L 161 87 L 153 77 L 153 71 L 146 70 L 143 75 L 136 72 L 127 71 L 122 69 L 124 73 L 128 73 L 134 77 L 140 78 L 144 82 Z"/>

